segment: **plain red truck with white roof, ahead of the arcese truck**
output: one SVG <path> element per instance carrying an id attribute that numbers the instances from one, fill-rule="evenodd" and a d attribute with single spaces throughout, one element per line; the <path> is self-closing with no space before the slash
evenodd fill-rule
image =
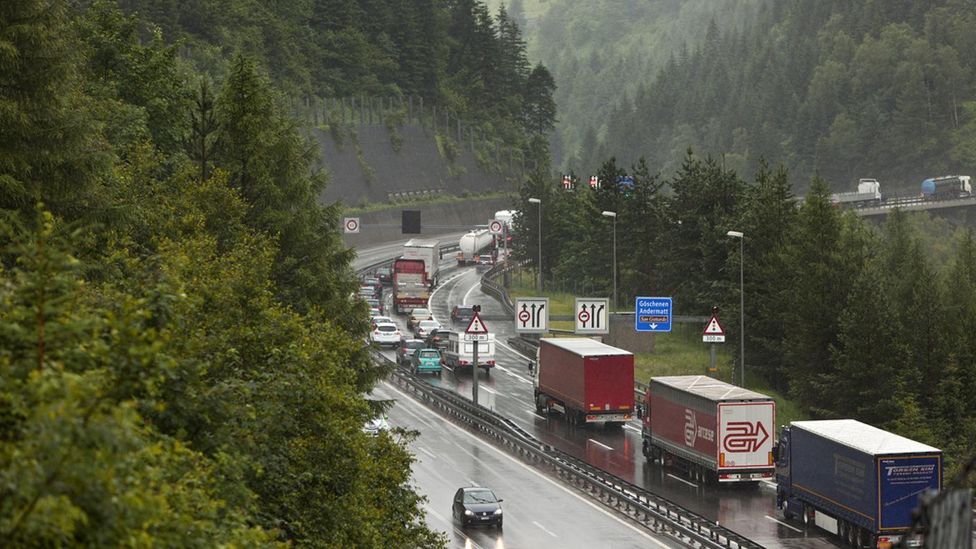
<path id="1" fill-rule="evenodd" d="M 570 425 L 621 426 L 633 417 L 633 354 L 588 338 L 543 338 L 536 355 L 536 409 Z"/>

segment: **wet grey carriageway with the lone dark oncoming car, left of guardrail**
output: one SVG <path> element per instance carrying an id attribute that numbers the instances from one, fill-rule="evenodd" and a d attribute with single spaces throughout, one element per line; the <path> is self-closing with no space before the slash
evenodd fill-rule
<path id="1" fill-rule="evenodd" d="M 427 525 L 445 532 L 449 547 L 683 547 L 668 537 L 633 526 L 590 497 L 551 479 L 492 443 L 431 415 L 423 403 L 390 384 L 377 387 L 373 397 L 396 401 L 389 411 L 390 427 L 422 433 L 411 443 L 417 456 L 413 465 L 414 483 L 427 497 Z M 503 529 L 461 528 L 451 516 L 455 490 L 471 485 L 488 486 L 505 500 Z"/>

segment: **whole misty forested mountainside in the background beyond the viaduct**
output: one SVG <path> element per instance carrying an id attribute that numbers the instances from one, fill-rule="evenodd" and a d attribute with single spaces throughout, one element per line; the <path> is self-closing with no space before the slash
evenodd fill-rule
<path id="1" fill-rule="evenodd" d="M 972 0 L 518 4 L 567 169 L 644 156 L 671 177 L 693 147 L 742 174 L 782 162 L 802 193 L 815 174 L 916 190 L 976 165 Z"/>

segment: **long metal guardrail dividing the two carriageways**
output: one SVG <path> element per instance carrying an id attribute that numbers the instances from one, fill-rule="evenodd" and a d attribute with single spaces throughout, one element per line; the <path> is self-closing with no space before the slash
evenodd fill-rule
<path id="1" fill-rule="evenodd" d="M 377 360 L 392 362 L 379 352 Z M 392 381 L 427 405 L 468 425 L 537 467 L 548 469 L 563 481 L 587 492 L 604 505 L 628 515 L 657 533 L 671 533 L 683 542 L 708 549 L 761 548 L 738 533 L 713 524 L 670 500 L 615 477 L 597 467 L 540 442 L 504 416 L 476 405 L 457 393 L 433 387 L 405 368 L 395 368 Z"/>

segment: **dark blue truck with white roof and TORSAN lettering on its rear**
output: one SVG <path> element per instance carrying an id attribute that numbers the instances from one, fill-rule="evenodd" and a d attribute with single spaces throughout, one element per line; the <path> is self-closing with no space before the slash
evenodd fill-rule
<path id="1" fill-rule="evenodd" d="M 850 547 L 901 542 L 918 496 L 942 488 L 942 450 L 853 419 L 794 421 L 775 454 L 784 516 L 835 533 Z M 920 536 L 906 541 L 922 545 Z"/>

